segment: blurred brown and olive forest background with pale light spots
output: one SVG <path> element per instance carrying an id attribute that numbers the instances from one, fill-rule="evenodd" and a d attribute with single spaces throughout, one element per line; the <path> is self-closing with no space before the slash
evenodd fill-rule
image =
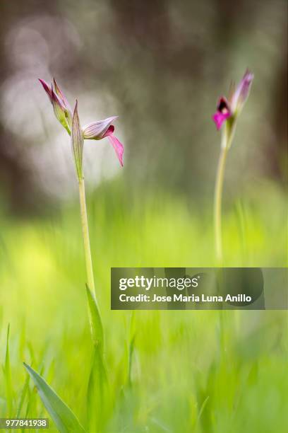
<path id="1" fill-rule="evenodd" d="M 249 67 L 225 195 L 283 190 L 285 11 L 285 0 L 1 1 L 1 212 L 48 212 L 77 194 L 69 138 L 37 81 L 52 76 L 71 105 L 78 98 L 83 125 L 119 115 L 124 169 L 105 140 L 85 142 L 91 188 L 121 173 L 131 195 L 157 188 L 210 203 L 220 150 L 211 115 Z"/>

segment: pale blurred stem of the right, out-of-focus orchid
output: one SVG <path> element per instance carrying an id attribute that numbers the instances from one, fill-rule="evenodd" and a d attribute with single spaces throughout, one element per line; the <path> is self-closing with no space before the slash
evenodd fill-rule
<path id="1" fill-rule="evenodd" d="M 222 265 L 222 190 L 224 180 L 224 170 L 227 159 L 228 148 L 227 146 L 221 147 L 220 158 L 217 168 L 217 176 L 215 183 L 215 196 L 214 196 L 214 229 L 215 229 L 215 250 L 216 258 L 219 265 Z"/>

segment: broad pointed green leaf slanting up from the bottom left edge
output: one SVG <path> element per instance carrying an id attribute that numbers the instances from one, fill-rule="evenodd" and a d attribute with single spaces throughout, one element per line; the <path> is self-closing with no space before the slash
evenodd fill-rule
<path id="1" fill-rule="evenodd" d="M 85 432 L 83 427 L 80 425 L 76 415 L 73 414 L 72 410 L 68 408 L 66 403 L 57 394 L 53 391 L 53 389 L 48 385 L 44 379 L 37 374 L 35 370 L 33 370 L 29 365 L 25 364 L 25 369 L 30 374 L 31 379 L 34 381 L 35 386 L 40 394 L 42 402 L 51 415 L 52 420 L 54 420 L 57 429 L 61 433 L 81 433 Z"/>

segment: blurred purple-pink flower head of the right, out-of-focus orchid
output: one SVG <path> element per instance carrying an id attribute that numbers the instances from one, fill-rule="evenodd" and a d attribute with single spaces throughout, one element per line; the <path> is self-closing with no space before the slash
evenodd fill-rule
<path id="1" fill-rule="evenodd" d="M 253 74 L 247 71 L 244 74 L 243 79 L 241 79 L 239 85 L 236 87 L 236 90 L 232 92 L 229 100 L 222 96 L 217 103 L 217 110 L 214 115 L 212 115 L 212 120 L 215 122 L 217 129 L 219 130 L 225 120 L 231 118 L 236 119 L 236 117 L 240 114 L 242 108 L 244 107 L 244 103 L 249 95 L 251 82 L 253 81 Z"/>

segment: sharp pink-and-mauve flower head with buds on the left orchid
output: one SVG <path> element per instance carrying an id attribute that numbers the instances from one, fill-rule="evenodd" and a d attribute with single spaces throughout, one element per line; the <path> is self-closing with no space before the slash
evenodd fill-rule
<path id="1" fill-rule="evenodd" d="M 53 79 L 51 87 L 44 80 L 40 79 L 39 81 L 53 105 L 54 114 L 57 120 L 59 120 L 68 134 L 71 135 L 72 149 L 76 161 L 76 171 L 78 176 L 82 173 L 84 139 L 100 140 L 107 137 L 116 152 L 116 156 L 119 159 L 121 166 L 123 166 L 124 146 L 119 142 L 119 139 L 114 136 L 115 128 L 114 125 L 112 125 L 112 122 L 114 122 L 118 116 L 107 117 L 107 119 L 104 120 L 97 120 L 97 122 L 92 122 L 81 129 L 78 117 L 77 101 L 72 112 L 68 100 L 57 85 L 55 79 Z"/>

